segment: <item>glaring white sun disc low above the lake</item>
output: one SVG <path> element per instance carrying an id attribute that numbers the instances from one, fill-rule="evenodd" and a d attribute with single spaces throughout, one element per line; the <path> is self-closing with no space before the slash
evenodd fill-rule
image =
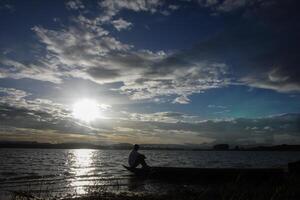
<path id="1" fill-rule="evenodd" d="M 92 99 L 83 99 L 73 104 L 73 116 L 84 122 L 91 122 L 101 117 L 100 106 Z"/>

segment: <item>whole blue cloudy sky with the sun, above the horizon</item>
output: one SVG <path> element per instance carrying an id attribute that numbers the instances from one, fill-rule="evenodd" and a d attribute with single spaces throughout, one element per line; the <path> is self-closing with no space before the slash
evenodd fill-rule
<path id="1" fill-rule="evenodd" d="M 300 143 L 297 0 L 0 0 L 0 141 Z"/>

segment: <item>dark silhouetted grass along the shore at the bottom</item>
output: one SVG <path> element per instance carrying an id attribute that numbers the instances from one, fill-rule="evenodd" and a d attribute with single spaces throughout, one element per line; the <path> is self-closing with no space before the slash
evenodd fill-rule
<path id="1" fill-rule="evenodd" d="M 55 197 L 41 193 L 14 192 L 11 200 L 299 200 L 299 177 L 290 175 L 284 181 L 266 180 L 259 183 L 247 180 L 234 180 L 227 183 L 191 185 L 176 184 L 163 194 L 110 192 L 103 185 L 94 185 L 87 189 L 87 194 L 78 196 L 66 194 Z"/>

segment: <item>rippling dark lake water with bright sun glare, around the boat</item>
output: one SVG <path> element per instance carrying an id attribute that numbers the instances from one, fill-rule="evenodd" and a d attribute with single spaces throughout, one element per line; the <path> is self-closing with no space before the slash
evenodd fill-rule
<path id="1" fill-rule="evenodd" d="M 286 167 L 300 152 L 146 150 L 152 166 L 172 167 Z M 0 199 L 8 191 L 84 195 L 93 187 L 151 192 L 166 183 L 136 180 L 127 165 L 128 150 L 0 149 Z"/>

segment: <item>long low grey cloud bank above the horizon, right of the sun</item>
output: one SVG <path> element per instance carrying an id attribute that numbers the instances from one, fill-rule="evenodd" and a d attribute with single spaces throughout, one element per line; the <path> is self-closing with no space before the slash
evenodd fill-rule
<path id="1" fill-rule="evenodd" d="M 300 142 L 300 115 L 282 114 L 264 118 L 237 118 L 223 120 L 196 120 L 173 112 L 137 114 L 114 120 L 111 139 L 140 143 L 229 143 L 231 145 L 275 145 Z M 190 116 L 192 117 L 192 116 Z M 106 122 L 107 124 L 107 122 Z M 94 123 L 101 127 L 103 123 Z"/>

